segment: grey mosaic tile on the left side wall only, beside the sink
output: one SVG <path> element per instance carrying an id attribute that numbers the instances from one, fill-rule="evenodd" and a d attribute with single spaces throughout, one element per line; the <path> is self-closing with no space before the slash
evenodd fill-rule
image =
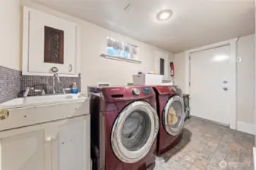
<path id="1" fill-rule="evenodd" d="M 0 103 L 17 97 L 20 91 L 21 71 L 0 66 Z"/>

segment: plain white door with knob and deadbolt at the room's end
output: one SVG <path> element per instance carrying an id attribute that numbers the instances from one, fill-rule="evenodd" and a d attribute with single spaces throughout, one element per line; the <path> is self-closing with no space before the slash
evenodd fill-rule
<path id="1" fill-rule="evenodd" d="M 229 45 L 190 55 L 191 115 L 229 125 Z"/>

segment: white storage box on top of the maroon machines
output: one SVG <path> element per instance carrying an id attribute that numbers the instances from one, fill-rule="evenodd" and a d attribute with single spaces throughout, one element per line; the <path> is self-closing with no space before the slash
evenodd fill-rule
<path id="1" fill-rule="evenodd" d="M 161 85 L 163 75 L 137 74 L 132 76 L 134 85 Z"/>

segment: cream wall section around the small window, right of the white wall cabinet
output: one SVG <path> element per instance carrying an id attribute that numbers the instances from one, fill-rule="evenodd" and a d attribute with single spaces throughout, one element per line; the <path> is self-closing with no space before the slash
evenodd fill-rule
<path id="1" fill-rule="evenodd" d="M 90 23 L 82 25 L 82 39 L 84 49 L 82 51 L 82 82 L 87 85 L 96 85 L 96 82 L 110 82 L 111 85 L 126 85 L 132 82 L 133 74 L 138 71 L 149 72 L 154 70 L 154 51 L 156 48 L 137 42 L 126 36 L 122 36 Z M 88 32 L 90 32 L 88 34 Z M 110 36 L 125 42 L 138 45 L 140 48 L 141 64 L 127 63 L 117 60 L 109 60 L 100 57 L 106 51 L 106 37 Z M 93 41 L 90 41 L 93 40 Z M 169 65 L 169 64 L 168 64 Z"/>

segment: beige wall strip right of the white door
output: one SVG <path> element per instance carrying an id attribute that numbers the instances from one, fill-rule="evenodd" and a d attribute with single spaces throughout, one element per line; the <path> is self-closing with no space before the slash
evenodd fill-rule
<path id="1" fill-rule="evenodd" d="M 237 55 L 237 118 L 239 122 L 254 123 L 254 35 L 239 38 Z"/>

